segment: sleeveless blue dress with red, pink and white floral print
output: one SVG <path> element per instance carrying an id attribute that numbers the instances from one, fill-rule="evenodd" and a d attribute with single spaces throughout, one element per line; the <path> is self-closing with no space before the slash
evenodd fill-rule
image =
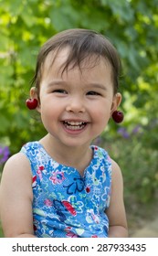
<path id="1" fill-rule="evenodd" d="M 21 152 L 32 172 L 33 223 L 38 238 L 106 238 L 111 198 L 111 158 L 94 145 L 84 176 L 74 167 L 60 165 L 38 142 Z"/>

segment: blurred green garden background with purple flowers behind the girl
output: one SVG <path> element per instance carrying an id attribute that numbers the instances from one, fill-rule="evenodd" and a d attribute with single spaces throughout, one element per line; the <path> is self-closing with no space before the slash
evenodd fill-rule
<path id="1" fill-rule="evenodd" d="M 95 143 L 121 166 L 132 234 L 158 213 L 157 0 L 0 0 L 0 176 L 10 155 L 46 133 L 25 103 L 37 52 L 73 27 L 99 31 L 121 57 L 124 122 L 110 121 Z"/>

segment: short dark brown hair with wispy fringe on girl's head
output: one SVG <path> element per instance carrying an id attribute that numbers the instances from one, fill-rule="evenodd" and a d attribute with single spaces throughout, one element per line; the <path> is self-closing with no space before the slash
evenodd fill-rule
<path id="1" fill-rule="evenodd" d="M 37 67 L 34 78 L 32 80 L 32 85 L 35 84 L 37 88 L 37 93 L 39 92 L 40 80 L 42 78 L 42 67 L 45 63 L 47 55 L 51 51 L 55 51 L 55 58 L 58 55 L 58 51 L 62 48 L 69 47 L 68 59 L 64 63 L 64 70 L 68 70 L 69 64 L 79 66 L 84 59 L 96 56 L 96 60 L 103 57 L 108 60 L 111 64 L 112 80 L 114 93 L 118 91 L 119 87 L 119 76 L 121 69 L 121 60 L 118 56 L 116 48 L 114 48 L 111 42 L 100 35 L 98 32 L 89 29 L 68 29 L 62 31 L 51 37 L 40 49 L 37 56 Z M 62 71 L 62 72 L 63 72 Z"/>

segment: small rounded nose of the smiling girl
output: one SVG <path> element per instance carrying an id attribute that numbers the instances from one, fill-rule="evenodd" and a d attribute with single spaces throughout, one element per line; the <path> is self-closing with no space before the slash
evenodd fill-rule
<path id="1" fill-rule="evenodd" d="M 80 97 L 73 97 L 68 100 L 67 112 L 85 112 L 84 102 Z"/>

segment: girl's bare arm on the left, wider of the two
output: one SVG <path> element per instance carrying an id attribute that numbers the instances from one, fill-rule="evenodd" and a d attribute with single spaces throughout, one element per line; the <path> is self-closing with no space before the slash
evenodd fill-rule
<path id="1" fill-rule="evenodd" d="M 18 153 L 5 164 L 0 186 L 0 217 L 5 237 L 35 237 L 32 176 L 26 156 Z"/>

